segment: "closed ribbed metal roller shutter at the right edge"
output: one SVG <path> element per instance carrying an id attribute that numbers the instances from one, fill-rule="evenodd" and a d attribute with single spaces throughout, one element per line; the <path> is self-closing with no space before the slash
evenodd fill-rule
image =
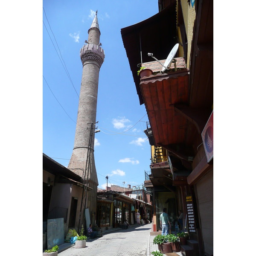
<path id="1" fill-rule="evenodd" d="M 213 255 L 213 168 L 196 183 L 204 252 Z"/>

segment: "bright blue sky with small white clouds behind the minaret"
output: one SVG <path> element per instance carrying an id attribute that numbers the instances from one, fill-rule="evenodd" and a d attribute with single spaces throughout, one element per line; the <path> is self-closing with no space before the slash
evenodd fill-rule
<path id="1" fill-rule="evenodd" d="M 144 171 L 150 170 L 151 163 L 150 145 L 143 133 L 148 117 L 145 105 L 139 103 L 120 31 L 157 14 L 157 1 L 44 0 L 43 7 L 44 154 L 63 166 L 69 163 L 82 76 L 79 52 L 98 10 L 105 50 L 96 115 L 101 132 L 95 134 L 94 147 L 99 188 L 105 188 L 107 175 L 109 185 L 144 183 Z"/>

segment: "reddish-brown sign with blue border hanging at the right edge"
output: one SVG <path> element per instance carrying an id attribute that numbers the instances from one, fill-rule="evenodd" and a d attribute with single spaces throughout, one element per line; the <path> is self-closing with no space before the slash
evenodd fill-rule
<path id="1" fill-rule="evenodd" d="M 201 135 L 204 143 L 204 151 L 207 163 L 209 163 L 209 161 L 213 158 L 213 111 Z"/>

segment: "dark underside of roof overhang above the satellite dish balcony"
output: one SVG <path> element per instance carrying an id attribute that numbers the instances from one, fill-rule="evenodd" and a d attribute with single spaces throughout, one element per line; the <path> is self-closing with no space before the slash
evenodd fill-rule
<path id="1" fill-rule="evenodd" d="M 140 78 L 137 75 L 139 67 L 137 65 L 153 60 L 148 56 L 148 52 L 153 53 L 158 60 L 167 58 L 172 47 L 178 43 L 176 19 L 176 0 L 170 0 L 169 6 L 156 15 L 121 29 L 122 41 L 136 85 L 140 105 L 144 101 L 140 91 Z"/>

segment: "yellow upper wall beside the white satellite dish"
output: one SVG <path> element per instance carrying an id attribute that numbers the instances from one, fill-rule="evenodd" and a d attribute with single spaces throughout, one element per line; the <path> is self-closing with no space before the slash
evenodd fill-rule
<path id="1" fill-rule="evenodd" d="M 178 0 L 177 0 L 177 6 L 178 6 Z M 181 6 L 183 11 L 183 18 L 184 23 L 186 27 L 186 35 L 188 39 L 188 58 L 187 58 L 187 68 L 189 68 L 189 60 L 190 60 L 190 52 L 191 52 L 191 42 L 193 37 L 193 26 L 195 21 L 195 5 L 192 8 L 191 4 L 188 4 L 187 0 L 181 0 Z M 178 13 L 178 12 L 177 12 Z M 180 28 L 178 29 L 178 35 L 181 42 L 181 36 L 180 36 Z M 183 57 L 183 47 L 179 45 L 179 57 Z"/>

